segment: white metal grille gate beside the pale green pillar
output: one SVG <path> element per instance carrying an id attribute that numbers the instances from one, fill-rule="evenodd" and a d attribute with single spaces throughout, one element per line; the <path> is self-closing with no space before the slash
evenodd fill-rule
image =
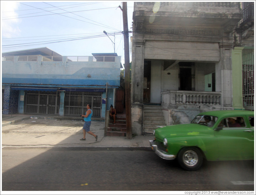
<path id="1" fill-rule="evenodd" d="M 243 60 L 243 106 L 254 110 L 254 49 L 242 50 Z"/>

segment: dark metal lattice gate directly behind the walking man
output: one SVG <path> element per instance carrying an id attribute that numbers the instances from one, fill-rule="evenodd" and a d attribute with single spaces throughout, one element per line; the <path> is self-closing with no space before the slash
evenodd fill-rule
<path id="1" fill-rule="evenodd" d="M 85 114 L 87 111 L 87 104 L 91 104 L 93 117 L 101 117 L 101 92 L 66 91 L 64 99 L 64 116 L 80 116 L 80 114 Z"/>

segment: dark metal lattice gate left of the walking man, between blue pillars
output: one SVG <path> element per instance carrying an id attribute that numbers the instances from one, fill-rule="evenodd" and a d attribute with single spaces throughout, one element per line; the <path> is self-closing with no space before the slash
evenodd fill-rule
<path id="1" fill-rule="evenodd" d="M 24 114 L 59 114 L 60 92 L 25 91 Z"/>

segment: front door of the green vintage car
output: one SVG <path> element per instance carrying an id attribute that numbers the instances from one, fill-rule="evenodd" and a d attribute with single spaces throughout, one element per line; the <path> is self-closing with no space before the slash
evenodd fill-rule
<path id="1" fill-rule="evenodd" d="M 231 125 L 230 119 L 223 118 L 218 126 L 223 129 L 215 131 L 219 160 L 253 159 L 254 129 L 246 116 L 230 116 L 236 118 L 239 125 Z"/>

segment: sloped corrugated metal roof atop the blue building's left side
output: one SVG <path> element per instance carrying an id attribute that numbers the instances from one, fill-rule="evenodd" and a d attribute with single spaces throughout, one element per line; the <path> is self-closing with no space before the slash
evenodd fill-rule
<path id="1" fill-rule="evenodd" d="M 47 48 L 36 48 L 36 49 L 26 49 L 26 50 L 20 50 L 20 51 L 10 51 L 2 53 L 2 56 L 17 56 L 17 55 L 43 55 L 43 56 L 62 56 L 61 54 L 58 54 L 57 52 Z"/>

